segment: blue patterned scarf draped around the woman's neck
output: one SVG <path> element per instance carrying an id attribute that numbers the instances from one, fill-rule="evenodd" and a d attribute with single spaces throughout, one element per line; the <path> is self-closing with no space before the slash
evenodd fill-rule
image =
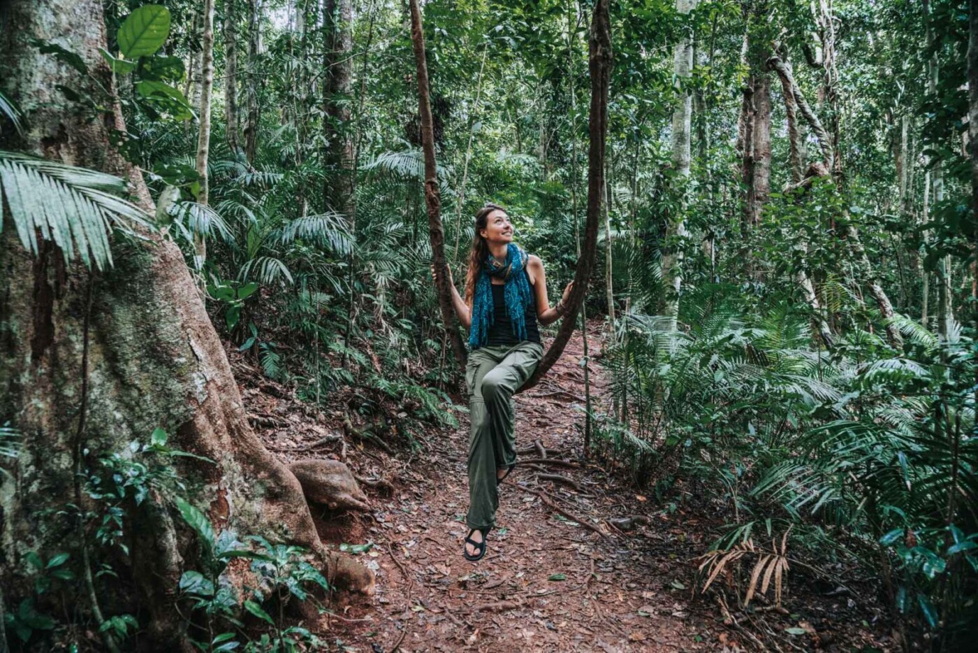
<path id="1" fill-rule="evenodd" d="M 533 302 L 530 282 L 523 274 L 529 259 L 529 255 L 510 243 L 505 261 L 497 260 L 490 254 L 482 264 L 482 274 L 475 280 L 472 326 L 468 331 L 468 346 L 472 350 L 477 350 L 486 344 L 489 327 L 492 326 L 496 316 L 490 277 L 506 279 L 503 296 L 506 298 L 506 312 L 510 315 L 512 332 L 519 340 L 526 340 L 526 308 Z"/>

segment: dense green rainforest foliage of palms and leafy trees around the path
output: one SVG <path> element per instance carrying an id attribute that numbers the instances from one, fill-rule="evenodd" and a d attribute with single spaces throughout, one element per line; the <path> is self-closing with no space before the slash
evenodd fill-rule
<path id="1" fill-rule="evenodd" d="M 352 24 L 337 27 L 318 2 L 217 3 L 205 206 L 194 165 L 200 3 L 167 0 L 166 12 L 143 4 L 105 3 L 118 57 L 105 55 L 127 122 L 117 140 L 155 197 L 178 189 L 157 227 L 184 249 L 215 326 L 310 401 L 353 388 L 364 412 L 389 400 L 412 420 L 446 419 L 457 375 L 442 325 L 430 319 L 437 305 L 418 89 L 402 5 L 362 0 Z M 551 297 L 573 271 L 586 182 L 587 10 L 554 0 L 424 6 L 442 218 L 457 280 L 471 215 L 486 201 L 507 207 L 517 240 L 544 259 Z M 237 17 L 234 79 L 221 73 L 231 54 L 220 28 L 228 12 Z M 588 303 L 592 315 L 614 307 L 616 319 L 601 358 L 613 398 L 594 412 L 587 453 L 654 485 L 663 500 L 678 500 L 670 492 L 680 477 L 720 492 L 728 526 L 714 534 L 719 549 L 763 533 L 785 537 L 788 551 L 804 551 L 792 555 L 816 567 L 844 559 L 875 568 L 906 642 L 940 650 L 953 650 L 978 623 L 975 220 L 960 140 L 967 19 L 958 0 L 820 8 L 717 0 L 688 15 L 669 2 L 613 3 L 610 228 L 600 244 L 607 265 Z M 337 56 L 333 30 L 347 27 L 352 46 Z M 678 79 L 681 38 L 692 40 L 694 66 Z M 828 142 L 799 116 L 800 148 L 792 150 L 784 96 L 767 65 L 773 55 L 793 64 Z M 352 82 L 330 92 L 331 67 L 343 63 Z M 744 154 L 742 98 L 749 86 L 761 107 L 763 79 L 771 88 L 770 192 L 753 219 L 745 203 L 765 153 Z M 237 124 L 221 111 L 231 93 Z M 687 93 L 689 175 L 672 154 L 673 114 Z M 350 118 L 337 121 L 337 107 Z M 20 128 L 3 96 L 0 113 Z M 253 151 L 229 146 L 249 137 Z M 343 139 L 352 173 L 336 157 Z M 823 157 L 830 174 L 801 184 Z M 32 225 L 48 236 L 11 189 L 38 175 L 57 201 L 45 218 L 51 237 L 67 256 L 74 249 L 108 264 L 96 232 L 113 216 L 138 217 L 99 190 L 108 182 L 3 155 L 0 184 L 24 245 L 33 246 Z M 352 201 L 338 206 L 332 189 L 344 177 L 353 179 Z M 70 202 L 84 209 L 74 222 L 61 210 Z M 680 221 L 686 235 L 673 229 Z M 200 239 L 206 257 L 195 250 Z M 677 298 L 663 284 L 663 260 L 680 253 Z M 888 293 L 895 314 L 873 286 Z M 676 320 L 663 310 L 674 301 Z M 830 346 L 813 328 L 820 322 Z M 418 423 L 399 430 L 413 445 Z M 216 587 L 222 552 L 239 543 L 218 540 L 210 569 L 182 583 L 208 619 L 234 623 Z M 286 568 L 289 578 L 318 583 L 289 567 L 292 552 L 257 544 L 266 593 L 294 593 Z M 12 628 L 42 628 L 29 626 L 29 610 Z M 248 610 L 279 623 L 260 606 Z"/>

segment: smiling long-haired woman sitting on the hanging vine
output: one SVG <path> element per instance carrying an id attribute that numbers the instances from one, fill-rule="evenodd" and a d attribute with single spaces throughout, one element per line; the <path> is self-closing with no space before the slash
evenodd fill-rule
<path id="1" fill-rule="evenodd" d="M 543 356 L 538 324 L 564 311 L 573 282 L 553 308 L 539 257 L 512 242 L 506 210 L 487 204 L 475 214 L 468 257 L 466 297 L 449 271 L 452 304 L 469 329 L 466 384 L 471 435 L 468 443 L 468 515 L 465 557 L 479 560 L 495 525 L 499 484 L 516 464 L 513 393 L 526 383 Z"/>

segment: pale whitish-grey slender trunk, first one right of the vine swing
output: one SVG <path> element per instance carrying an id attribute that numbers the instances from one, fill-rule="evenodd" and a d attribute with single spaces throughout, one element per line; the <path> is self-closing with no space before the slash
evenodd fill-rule
<path id="1" fill-rule="evenodd" d="M 696 0 L 676 0 L 676 11 L 689 14 L 696 8 Z M 672 162 L 682 185 L 683 201 L 679 214 L 669 220 L 667 238 L 670 240 L 669 253 L 662 258 L 662 275 L 665 279 L 664 313 L 676 328 L 679 319 L 679 297 L 683 287 L 684 239 L 689 235 L 686 226 L 686 196 L 689 185 L 690 132 L 692 128 L 692 96 L 686 82 L 692 75 L 692 35 L 685 33 L 673 52 L 673 67 L 676 76 L 678 98 L 673 110 L 672 120 Z"/>

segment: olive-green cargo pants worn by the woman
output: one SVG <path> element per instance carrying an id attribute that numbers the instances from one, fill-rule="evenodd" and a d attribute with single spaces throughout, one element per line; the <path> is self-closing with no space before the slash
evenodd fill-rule
<path id="1" fill-rule="evenodd" d="M 516 464 L 513 394 L 533 374 L 544 348 L 517 345 L 480 347 L 468 354 L 466 383 L 471 435 L 468 441 L 468 517 L 470 529 L 485 533 L 496 523 L 499 493 L 496 470 Z"/>

